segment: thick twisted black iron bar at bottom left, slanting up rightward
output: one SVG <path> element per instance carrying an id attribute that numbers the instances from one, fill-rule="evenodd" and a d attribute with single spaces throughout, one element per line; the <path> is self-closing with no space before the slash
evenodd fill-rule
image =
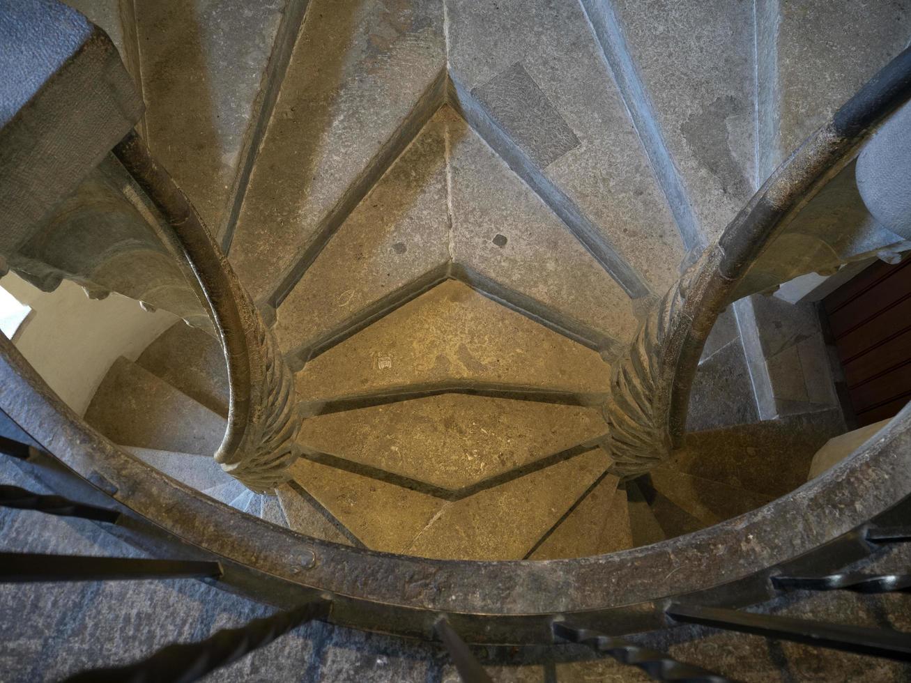
<path id="1" fill-rule="evenodd" d="M 174 643 L 151 657 L 116 668 L 89 669 L 65 683 L 190 683 L 216 668 L 229 665 L 255 649 L 268 645 L 293 628 L 329 616 L 332 603 L 314 600 L 271 617 L 253 619 L 239 628 L 225 628 L 198 643 Z"/>

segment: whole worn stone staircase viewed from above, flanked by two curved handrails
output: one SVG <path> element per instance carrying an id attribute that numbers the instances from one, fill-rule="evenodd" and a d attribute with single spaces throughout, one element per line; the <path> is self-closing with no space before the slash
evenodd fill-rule
<path id="1" fill-rule="evenodd" d="M 307 418 L 277 499 L 220 479 L 218 350 L 174 328 L 116 363 L 87 413 L 165 472 L 340 543 L 584 556 L 763 505 L 843 431 L 809 397 L 787 418 L 806 427 L 788 476 L 761 466 L 748 485 L 708 434 L 690 465 L 715 457 L 710 476 L 678 455 L 620 482 L 601 447 L 610 363 L 642 315 L 812 130 L 802 107 L 821 119 L 842 98 L 793 62 L 807 46 L 787 8 L 73 5 L 119 43 L 140 132 L 274 322 Z M 906 40 L 903 7 L 857 20 L 888 33 L 827 46 L 845 94 Z M 691 429 L 749 432 L 756 359 L 718 327 Z"/>

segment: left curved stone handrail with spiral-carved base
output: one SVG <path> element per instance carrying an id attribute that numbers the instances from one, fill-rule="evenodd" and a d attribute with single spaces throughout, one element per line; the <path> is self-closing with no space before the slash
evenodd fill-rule
<path id="1" fill-rule="evenodd" d="M 215 460 L 254 491 L 274 488 L 299 454 L 291 369 L 209 229 L 142 139 L 130 132 L 114 155 L 167 219 L 159 238 L 189 263 L 225 353 L 228 428 Z"/>

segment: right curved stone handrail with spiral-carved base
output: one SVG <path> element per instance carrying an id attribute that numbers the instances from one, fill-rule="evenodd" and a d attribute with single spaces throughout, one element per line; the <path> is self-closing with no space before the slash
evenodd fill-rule
<path id="1" fill-rule="evenodd" d="M 724 308 L 750 293 L 736 291 L 750 265 L 854 158 L 873 127 L 909 97 L 911 47 L 784 161 L 721 237 L 652 307 L 612 370 L 604 415 L 613 472 L 642 474 L 681 444 L 702 347 Z"/>

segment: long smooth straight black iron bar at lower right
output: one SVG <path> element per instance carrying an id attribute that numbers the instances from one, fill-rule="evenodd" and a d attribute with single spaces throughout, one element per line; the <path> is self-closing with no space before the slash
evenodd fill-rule
<path id="1" fill-rule="evenodd" d="M 813 619 L 755 614 L 723 607 L 671 605 L 665 614 L 685 624 L 791 640 L 859 655 L 911 661 L 911 634 L 901 631 L 829 624 Z"/>

